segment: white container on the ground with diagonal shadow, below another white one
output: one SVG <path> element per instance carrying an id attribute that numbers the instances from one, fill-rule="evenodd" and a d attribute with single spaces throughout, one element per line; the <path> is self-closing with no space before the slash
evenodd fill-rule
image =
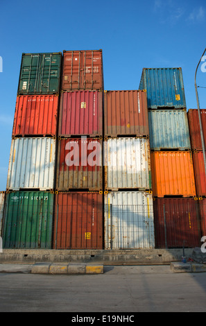
<path id="1" fill-rule="evenodd" d="M 143 191 L 105 194 L 105 249 L 155 248 L 153 197 Z"/>

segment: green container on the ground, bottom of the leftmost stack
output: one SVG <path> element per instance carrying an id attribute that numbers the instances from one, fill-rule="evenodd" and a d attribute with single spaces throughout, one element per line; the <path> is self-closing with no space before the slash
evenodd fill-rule
<path id="1" fill-rule="evenodd" d="M 6 194 L 3 248 L 52 248 L 53 196 L 44 191 Z"/>

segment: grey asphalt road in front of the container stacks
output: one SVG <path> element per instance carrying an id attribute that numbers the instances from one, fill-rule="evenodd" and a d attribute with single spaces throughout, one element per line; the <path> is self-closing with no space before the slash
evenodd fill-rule
<path id="1" fill-rule="evenodd" d="M 105 266 L 97 275 L 0 273 L 0 311 L 70 312 L 69 318 L 205 312 L 206 273 L 173 273 L 170 266 Z"/>

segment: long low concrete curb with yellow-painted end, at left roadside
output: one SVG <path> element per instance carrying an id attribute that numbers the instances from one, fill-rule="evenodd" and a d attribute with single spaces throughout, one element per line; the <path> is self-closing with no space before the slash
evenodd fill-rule
<path id="1" fill-rule="evenodd" d="M 0 273 L 103 274 L 103 264 L 0 264 Z"/>

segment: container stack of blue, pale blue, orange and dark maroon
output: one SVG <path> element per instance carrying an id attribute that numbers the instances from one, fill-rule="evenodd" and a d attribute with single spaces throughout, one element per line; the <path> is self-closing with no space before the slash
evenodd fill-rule
<path id="1" fill-rule="evenodd" d="M 156 248 L 198 246 L 198 201 L 181 68 L 144 68 Z"/>

